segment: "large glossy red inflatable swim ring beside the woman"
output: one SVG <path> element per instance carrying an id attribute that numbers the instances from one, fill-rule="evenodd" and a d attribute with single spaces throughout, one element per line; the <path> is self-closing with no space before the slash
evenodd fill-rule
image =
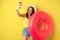
<path id="1" fill-rule="evenodd" d="M 39 31 L 37 25 L 39 21 L 42 20 L 44 24 L 44 29 Z M 40 27 L 40 26 L 39 26 Z M 30 35 L 36 40 L 42 40 L 47 38 L 52 32 L 52 19 L 51 17 L 43 11 L 37 11 L 29 19 L 29 32 Z"/>

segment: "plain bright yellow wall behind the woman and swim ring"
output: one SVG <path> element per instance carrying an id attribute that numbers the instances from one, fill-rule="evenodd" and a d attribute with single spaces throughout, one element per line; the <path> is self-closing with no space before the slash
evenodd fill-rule
<path id="1" fill-rule="evenodd" d="M 22 40 L 23 19 L 16 13 L 19 1 L 23 3 L 20 13 L 26 13 L 28 4 L 48 12 L 54 22 L 48 40 L 60 40 L 60 0 L 0 0 L 0 40 Z"/>

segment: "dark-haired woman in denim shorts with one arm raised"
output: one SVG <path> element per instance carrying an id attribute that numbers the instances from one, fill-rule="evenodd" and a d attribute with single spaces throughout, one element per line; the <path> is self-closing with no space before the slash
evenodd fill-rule
<path id="1" fill-rule="evenodd" d="M 17 6 L 17 9 L 16 9 L 16 12 L 17 12 L 18 16 L 24 18 L 24 20 L 25 19 L 28 19 L 29 20 L 30 16 L 32 16 L 34 14 L 34 12 L 35 12 L 34 7 L 33 6 L 29 6 L 28 9 L 27 9 L 27 13 L 26 14 L 20 14 L 19 11 L 18 11 L 18 9 L 21 9 L 21 6 L 22 6 L 22 3 L 19 2 L 18 6 Z M 25 22 L 23 21 L 23 24 L 24 23 L 27 23 L 27 22 L 26 21 Z M 28 26 L 27 27 L 24 26 L 24 27 L 25 28 L 24 28 L 23 33 L 22 33 L 23 40 L 27 40 L 29 36 L 30 36 L 30 40 L 33 40 L 32 36 L 29 34 Z"/>

